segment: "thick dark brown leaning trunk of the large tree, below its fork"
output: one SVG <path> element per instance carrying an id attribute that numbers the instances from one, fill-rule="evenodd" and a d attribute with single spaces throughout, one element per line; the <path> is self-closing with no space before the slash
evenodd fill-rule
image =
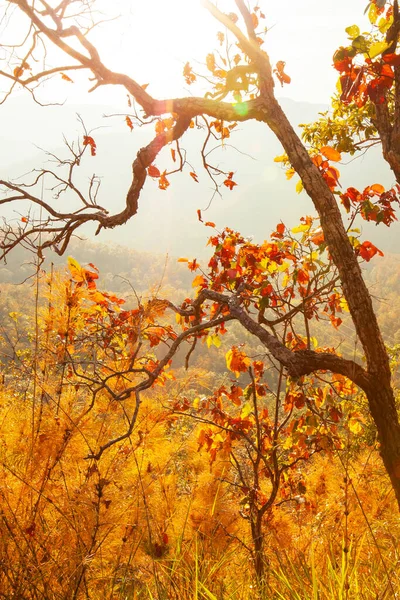
<path id="1" fill-rule="evenodd" d="M 273 93 L 268 94 L 264 101 L 265 122 L 280 140 L 313 201 L 329 252 L 338 269 L 343 294 L 366 357 L 369 384 L 363 389 L 378 431 L 380 453 L 400 509 L 400 424 L 391 386 L 389 357 L 372 299 L 335 196 L 312 163 Z"/>

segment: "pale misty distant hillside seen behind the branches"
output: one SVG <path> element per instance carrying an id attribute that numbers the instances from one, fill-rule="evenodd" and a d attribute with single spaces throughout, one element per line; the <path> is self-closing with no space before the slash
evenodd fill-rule
<path id="1" fill-rule="evenodd" d="M 297 125 L 312 121 L 318 112 L 326 107 L 308 103 L 282 101 L 291 122 Z M 138 148 L 151 139 L 152 126 L 134 129 L 129 132 L 122 111 L 126 106 L 50 106 L 40 107 L 20 97 L 11 98 L 2 110 L 3 146 L 0 152 L 2 176 L 16 177 L 48 160 L 36 146 L 65 156 L 62 134 L 68 139 L 82 136 L 76 113 L 82 115 L 88 129 L 101 125 L 93 136 L 97 142 L 97 156 L 87 157 L 81 167 L 81 181 L 95 172 L 102 179 L 99 196 L 100 204 L 111 211 L 120 210 L 130 184 L 131 163 Z M 120 117 L 103 119 L 104 113 L 121 111 Z M 189 170 L 170 178 L 167 191 L 160 191 L 155 181 L 148 181 L 140 197 L 138 214 L 126 225 L 115 230 L 103 231 L 97 238 L 103 243 L 118 243 L 139 251 L 169 253 L 170 255 L 203 256 L 209 229 L 198 222 L 197 209 L 204 210 L 210 203 L 212 182 L 204 172 L 199 149 L 202 132 L 190 130 L 185 135 L 182 146 L 187 150 L 188 160 L 199 176 L 195 183 Z M 27 140 L 30 140 L 29 142 Z M 36 145 L 36 146 L 35 146 Z M 215 196 L 209 209 L 204 212 L 206 220 L 216 223 L 218 228 L 229 226 L 240 229 L 256 240 L 268 237 L 279 221 L 294 226 L 301 215 L 313 214 L 311 201 L 303 192 L 295 192 L 296 176 L 287 181 L 280 165 L 273 162 L 282 148 L 266 126 L 259 123 L 239 124 L 234 135 L 223 147 L 218 147 L 210 155 L 214 164 L 233 170 L 238 183 L 232 191 L 223 191 L 223 197 Z M 172 165 L 169 149 L 157 159 L 160 168 Z M 364 187 L 380 182 L 392 185 L 393 177 L 377 149 L 371 149 L 357 160 L 345 161 L 340 165 L 342 183 L 346 187 Z M 47 167 L 51 163 L 47 163 Z M 51 193 L 46 192 L 49 198 Z M 61 201 L 59 201 L 61 202 Z M 14 207 L 15 209 L 15 207 Z M 6 208 L 7 218 L 20 218 Z M 384 225 L 375 227 L 361 223 L 363 236 L 371 239 L 384 251 L 399 250 L 400 226 L 395 223 L 391 229 Z M 92 238 L 93 227 L 81 233 Z"/>

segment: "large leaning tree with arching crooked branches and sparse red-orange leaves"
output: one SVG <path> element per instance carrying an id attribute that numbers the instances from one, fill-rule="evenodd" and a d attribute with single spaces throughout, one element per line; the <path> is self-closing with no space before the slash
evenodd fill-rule
<path id="1" fill-rule="evenodd" d="M 135 105 L 140 107 L 142 111 L 140 116 L 137 113 L 133 117 L 127 116 L 126 123 L 129 127 L 133 125 L 132 119 L 135 116 L 142 122 L 156 120 L 156 135 L 137 153 L 132 164 L 132 183 L 127 193 L 126 205 L 117 214 L 110 215 L 97 204 L 96 180 L 90 182 L 87 193 L 79 190 L 74 184 L 74 174 L 83 154 L 85 152 L 87 154 L 88 150 L 92 155 L 96 153 L 96 142 L 89 132 L 85 132 L 82 144 L 77 148 L 71 147 L 72 158 L 67 161 L 68 173 L 65 178 L 57 173 L 40 171 L 30 186 L 1 180 L 1 185 L 8 192 L 1 200 L 1 204 L 28 200 L 41 207 L 44 215 L 41 219 L 32 221 L 24 217 L 21 226 L 17 229 L 5 227 L 2 240 L 3 256 L 21 243 L 39 245 L 40 255 L 46 247 L 53 247 L 62 254 L 71 236 L 84 223 L 93 222 L 99 231 L 128 221 L 138 210 L 139 196 L 148 177 L 157 178 L 161 190 L 166 189 L 170 184 L 168 176 L 172 172 L 161 172 L 154 165 L 155 159 L 163 148 L 175 143 L 172 154 L 174 160 L 177 160 L 177 166 L 173 171 L 183 170 L 185 157 L 180 152 L 179 141 L 196 121 L 202 120 L 205 124 L 207 139 L 211 135 L 216 135 L 219 139 L 230 136 L 237 122 L 256 120 L 260 122 L 260 127 L 261 124 L 267 125 L 281 142 L 288 163 L 299 175 L 302 186 L 318 213 L 323 240 L 320 238 L 320 244 L 316 245 L 321 246 L 322 243 L 325 245 L 330 257 L 329 261 L 337 269 L 338 285 L 343 292 L 365 354 L 365 367 L 337 353 L 312 350 L 309 336 L 305 347 L 292 345 L 288 339 L 283 342 L 279 340 L 274 334 L 274 327 L 285 322 L 286 315 L 283 311 L 286 312 L 287 307 L 284 307 L 277 317 L 278 323 L 268 317 L 265 318 L 266 308 L 272 308 L 274 312 L 277 306 L 274 304 L 273 290 L 265 289 L 265 295 L 270 298 L 271 304 L 267 303 L 263 306 L 257 294 L 251 297 L 251 293 L 257 289 L 254 287 L 254 281 L 253 288 L 249 289 L 246 287 L 246 282 L 240 283 L 240 277 L 236 281 L 235 276 L 235 283 L 231 285 L 224 256 L 221 258 L 222 268 L 219 274 L 225 273 L 227 279 L 217 283 L 211 281 L 210 285 L 201 282 L 201 290 L 197 298 L 186 302 L 178 310 L 178 314 L 193 324 L 191 331 L 190 328 L 186 329 L 184 338 L 190 338 L 190 335 L 193 337 L 199 331 L 206 329 L 205 322 L 202 322 L 203 312 L 204 307 L 211 303 L 212 312 L 216 316 L 215 318 L 212 316 L 208 321 L 209 328 L 220 327 L 228 320 L 239 321 L 262 342 L 270 356 L 286 369 L 290 377 L 299 380 L 310 373 L 322 370 L 345 376 L 354 382 L 364 391 L 368 399 L 369 410 L 379 435 L 382 459 L 400 505 L 400 425 L 391 385 L 389 359 L 359 264 L 360 259 L 369 260 L 377 249 L 369 241 L 354 244 L 344 226 L 337 203 L 339 173 L 329 162 L 337 160 L 337 151 L 332 147 L 326 148 L 325 145 L 317 148 L 317 151 L 308 151 L 274 96 L 274 75 L 282 85 L 288 83 L 290 78 L 284 71 L 284 63 L 280 61 L 273 68 L 268 54 L 261 47 L 263 39 L 257 35 L 259 21 L 264 17 L 261 10 L 256 7 L 251 11 L 244 0 L 232 2 L 232 7 L 236 5 L 238 14 L 233 12 L 224 14 L 209 0 L 204 0 L 203 4 L 236 41 L 235 54 L 232 56 L 233 48 L 229 46 L 228 55 L 223 58 L 225 68 L 222 69 L 218 66 L 215 56 L 208 55 L 207 67 L 214 85 L 206 97 L 158 100 L 128 75 L 111 71 L 102 63 L 98 50 L 89 39 L 93 25 L 91 17 L 95 6 L 94 1 L 62 0 L 53 5 L 45 0 L 35 5 L 29 4 L 27 0 L 5 2 L 9 10 L 16 9 L 13 13 L 10 10 L 10 18 L 15 13 L 18 15 L 23 13 L 25 22 L 29 25 L 28 37 L 23 46 L 23 49 L 26 48 L 25 54 L 21 58 L 16 44 L 14 57 L 19 57 L 17 66 L 12 72 L 9 68 L 1 71 L 1 75 L 11 82 L 10 92 L 17 85 L 22 85 L 34 94 L 34 87 L 48 76 L 61 73 L 63 78 L 68 79 L 67 72 L 86 69 L 94 79 L 92 90 L 106 85 L 121 86 L 133 99 Z M 356 31 L 350 50 L 342 48 L 340 55 L 336 55 L 335 58 L 336 66 L 342 74 L 341 100 L 348 104 L 353 114 L 357 110 L 368 108 L 372 115 L 371 122 L 382 143 L 383 157 L 392 168 L 396 180 L 400 182 L 398 155 L 400 65 L 396 54 L 400 30 L 398 4 L 397 0 L 394 0 L 393 4 L 384 0 L 373 0 L 369 6 L 371 22 L 374 24 L 375 20 L 377 24 L 372 37 L 367 39 L 366 36 L 358 35 Z M 238 25 L 239 16 L 244 25 L 243 29 Z M 379 20 L 377 20 L 378 16 Z M 353 33 L 350 33 L 350 36 Z M 224 36 L 225 34 L 220 33 L 219 39 L 222 41 Z M 36 54 L 48 47 L 56 47 L 61 51 L 65 59 L 68 59 L 68 64 L 59 62 L 58 66 L 52 69 L 27 75 L 31 69 L 32 59 L 36 59 Z M 364 60 L 364 64 L 358 65 L 356 60 L 361 62 Z M 188 84 L 196 80 L 196 74 L 189 63 L 185 66 L 184 76 Z M 227 102 L 227 98 L 231 98 L 232 101 Z M 352 132 L 350 132 L 351 137 Z M 366 132 L 366 140 L 368 141 L 369 138 L 370 135 Z M 327 139 L 331 139 L 329 135 Z M 236 185 L 233 173 L 223 173 L 216 166 L 210 165 L 204 152 L 203 162 L 216 186 L 219 185 L 218 176 L 221 175 L 222 184 L 227 188 L 232 189 Z M 41 199 L 35 192 L 35 184 L 40 182 L 44 175 L 55 179 L 54 186 L 59 193 L 63 193 L 66 189 L 72 191 L 79 206 L 71 212 L 61 212 Z M 191 176 L 196 179 L 196 173 L 191 172 Z M 374 199 L 375 205 L 372 202 Z M 382 216 L 391 211 L 392 203 L 397 201 L 397 191 L 395 189 L 385 192 L 379 187 L 371 186 L 368 191 L 364 191 L 362 198 L 358 198 L 354 188 L 350 188 L 343 194 L 342 201 L 348 208 L 352 203 L 362 204 L 364 208 L 372 206 L 369 214 L 376 216 L 379 213 Z M 199 216 L 201 218 L 201 215 Z M 364 216 L 368 217 L 368 211 L 364 210 Z M 385 221 L 385 218 L 382 216 L 379 220 Z M 386 218 L 387 224 L 390 220 Z M 308 227 L 307 232 L 311 232 L 311 225 L 307 223 L 305 225 Z M 279 228 L 276 233 L 275 240 L 278 243 L 275 243 L 275 246 L 272 244 L 273 247 L 269 248 L 269 258 L 271 259 L 272 256 L 272 262 L 279 265 L 282 257 L 277 256 L 277 253 L 279 255 L 281 252 L 279 243 L 285 233 Z M 46 235 L 45 238 L 40 238 L 40 242 L 37 241 L 39 234 Z M 314 231 L 313 237 L 315 236 Z M 225 245 L 222 244 L 225 250 L 228 247 L 228 255 L 232 249 L 235 252 L 238 244 L 243 245 L 238 241 L 234 244 L 227 242 L 227 238 L 231 237 L 229 232 L 225 233 Z M 316 241 L 318 240 L 315 238 L 314 244 Z M 219 252 L 220 244 L 216 245 L 216 250 Z M 257 248 L 254 248 L 254 253 L 256 252 Z M 211 270 L 213 270 L 212 265 Z M 236 270 L 239 273 L 239 269 Z M 308 292 L 306 289 L 305 295 L 300 296 L 300 301 L 292 307 L 296 314 L 305 317 L 306 324 L 312 316 L 313 311 L 310 312 L 310 306 L 314 302 L 317 291 L 319 293 L 315 286 L 311 286 Z M 332 302 L 336 303 L 336 297 Z"/>

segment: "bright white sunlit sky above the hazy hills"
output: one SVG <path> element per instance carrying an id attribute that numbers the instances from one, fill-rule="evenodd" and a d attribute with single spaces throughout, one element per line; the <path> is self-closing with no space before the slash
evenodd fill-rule
<path id="1" fill-rule="evenodd" d="M 217 4 L 224 12 L 236 9 L 234 0 L 218 0 Z M 256 0 L 250 6 L 253 4 Z M 264 48 L 273 63 L 286 62 L 292 78 L 291 85 L 282 90 L 277 86 L 277 95 L 329 102 L 337 79 L 332 55 L 347 43 L 345 27 L 357 23 L 361 29 L 368 28 L 363 15 L 366 5 L 366 0 L 259 0 L 266 15 L 261 24 L 268 28 Z M 207 53 L 218 47 L 216 33 L 221 29 L 201 0 L 97 0 L 95 6 L 103 11 L 99 20 L 120 15 L 89 34 L 107 66 L 128 73 L 140 83 L 150 83 L 148 91 L 157 97 L 199 93 L 194 86 L 185 87 L 183 65 L 190 61 L 201 71 Z M 17 22 L 21 35 L 25 25 Z M 2 37 L 3 43 L 15 38 L 15 28 L 8 27 Z M 46 66 L 55 64 L 50 53 Z M 76 74 L 74 80 L 78 85 L 56 78 L 52 92 L 57 100 L 87 103 L 87 75 Z M 109 87 L 96 91 L 89 102 L 120 101 L 121 92 Z"/>

